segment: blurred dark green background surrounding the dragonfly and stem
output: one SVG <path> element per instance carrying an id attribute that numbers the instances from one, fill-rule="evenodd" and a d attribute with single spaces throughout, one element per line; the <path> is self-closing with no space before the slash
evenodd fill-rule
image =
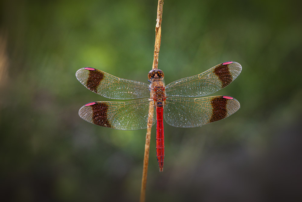
<path id="1" fill-rule="evenodd" d="M 237 61 L 214 95 L 241 104 L 197 128 L 165 126 L 159 173 L 152 129 L 146 201 L 302 200 L 300 6 L 288 1 L 164 3 L 159 68 L 166 84 Z M 3 201 L 137 201 L 146 130 L 82 120 L 106 101 L 77 81 L 93 67 L 147 82 L 157 1 L 2 0 L 0 181 Z"/>

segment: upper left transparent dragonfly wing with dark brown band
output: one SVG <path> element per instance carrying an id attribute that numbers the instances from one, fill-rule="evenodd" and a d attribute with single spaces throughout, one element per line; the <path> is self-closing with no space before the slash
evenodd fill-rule
<path id="1" fill-rule="evenodd" d="M 150 97 L 149 85 L 110 75 L 104 71 L 85 67 L 76 72 L 76 78 L 89 90 L 112 99 Z"/>

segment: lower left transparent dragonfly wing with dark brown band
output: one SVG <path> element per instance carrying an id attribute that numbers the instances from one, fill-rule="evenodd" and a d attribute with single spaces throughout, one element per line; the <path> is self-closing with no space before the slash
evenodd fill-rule
<path id="1" fill-rule="evenodd" d="M 147 128 L 149 113 L 153 113 L 152 123 L 156 122 L 156 115 L 149 112 L 149 105 L 153 105 L 153 100 L 149 101 L 148 98 L 125 102 L 90 102 L 80 108 L 79 116 L 98 126 L 138 130 Z"/>

